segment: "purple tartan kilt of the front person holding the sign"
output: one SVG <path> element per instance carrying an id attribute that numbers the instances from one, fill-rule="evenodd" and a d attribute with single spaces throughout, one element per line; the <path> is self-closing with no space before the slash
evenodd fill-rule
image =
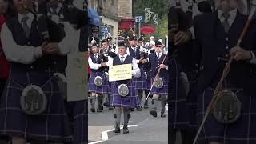
<path id="1" fill-rule="evenodd" d="M 122 83 L 126 84 L 129 89 L 129 94 L 126 97 L 122 97 L 118 94 L 118 86 Z M 140 100 L 134 86 L 135 84 L 133 80 L 111 82 L 112 93 L 110 97 L 110 105 L 126 108 L 134 108 L 140 106 Z"/>

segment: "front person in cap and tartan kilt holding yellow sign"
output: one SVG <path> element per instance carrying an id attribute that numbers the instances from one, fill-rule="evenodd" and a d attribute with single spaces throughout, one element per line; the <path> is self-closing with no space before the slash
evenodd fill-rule
<path id="1" fill-rule="evenodd" d="M 132 75 L 135 78 L 140 77 L 140 69 L 135 58 L 126 54 L 126 43 L 118 43 L 118 56 L 110 59 L 109 62 L 102 64 L 103 66 L 117 66 L 122 64 L 132 64 Z M 138 94 L 135 91 L 135 83 L 133 79 L 115 81 L 111 84 L 111 106 L 114 106 L 114 133 L 120 133 L 120 120 L 123 110 L 124 123 L 123 133 L 129 133 L 128 122 L 130 118 L 130 108 L 140 106 Z"/>

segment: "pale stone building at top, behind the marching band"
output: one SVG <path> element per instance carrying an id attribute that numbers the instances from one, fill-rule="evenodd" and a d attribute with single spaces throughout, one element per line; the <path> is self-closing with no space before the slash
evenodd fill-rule
<path id="1" fill-rule="evenodd" d="M 134 26 L 132 0 L 88 0 L 88 6 L 101 16 L 101 30 L 107 29 L 114 38 L 118 37 L 118 30 Z"/>

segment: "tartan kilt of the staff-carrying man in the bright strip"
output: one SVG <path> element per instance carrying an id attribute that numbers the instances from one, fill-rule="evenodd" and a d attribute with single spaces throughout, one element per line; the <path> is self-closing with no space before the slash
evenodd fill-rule
<path id="1" fill-rule="evenodd" d="M 162 81 L 163 81 L 162 88 L 158 89 L 155 86 L 153 86 L 150 94 L 165 94 L 165 95 L 168 94 L 168 79 L 163 78 L 163 77 L 160 77 L 160 78 L 162 78 Z M 153 82 L 154 82 L 154 78 L 151 78 L 150 79 L 150 88 L 151 88 L 152 85 L 154 85 Z"/>

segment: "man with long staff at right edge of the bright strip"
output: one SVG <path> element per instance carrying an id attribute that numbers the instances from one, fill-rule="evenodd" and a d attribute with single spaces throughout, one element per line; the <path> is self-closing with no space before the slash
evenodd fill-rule
<path id="1" fill-rule="evenodd" d="M 153 110 L 150 110 L 150 114 L 154 117 L 157 117 L 157 106 L 158 101 L 161 102 L 161 117 L 166 117 L 165 115 L 165 105 L 166 105 L 166 98 L 168 94 L 168 66 L 167 62 L 163 62 L 166 54 L 163 54 L 163 48 L 162 42 L 156 41 L 155 42 L 155 52 L 154 54 L 150 54 L 149 61 L 150 61 L 150 86 L 153 85 L 152 90 L 150 94 L 153 94 L 153 100 L 154 100 L 154 106 Z M 167 58 L 166 58 L 167 59 Z M 162 64 L 163 62 L 163 64 Z M 157 78 L 158 69 L 160 70 L 160 73 Z M 150 87 L 151 88 L 151 87 Z"/>

